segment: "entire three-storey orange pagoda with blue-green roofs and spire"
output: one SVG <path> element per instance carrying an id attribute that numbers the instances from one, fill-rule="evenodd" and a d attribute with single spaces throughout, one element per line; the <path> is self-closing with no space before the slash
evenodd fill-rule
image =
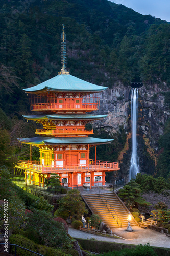
<path id="1" fill-rule="evenodd" d="M 96 160 L 96 146 L 111 143 L 111 139 L 89 137 L 93 130 L 85 125 L 106 115 L 93 115 L 98 110 L 100 92 L 107 87 L 97 86 L 66 71 L 66 45 L 63 25 L 61 62 L 59 74 L 27 89 L 30 109 L 35 115 L 24 116 L 42 124 L 36 129 L 39 136 L 18 139 L 21 143 L 39 147 L 40 161 L 21 161 L 19 168 L 25 170 L 26 183 L 40 185 L 54 173 L 61 178 L 62 185 L 82 186 L 85 182 L 94 186 L 98 181 L 105 185 L 105 172 L 118 170 L 118 163 Z M 90 147 L 95 146 L 95 159 L 89 159 Z"/>

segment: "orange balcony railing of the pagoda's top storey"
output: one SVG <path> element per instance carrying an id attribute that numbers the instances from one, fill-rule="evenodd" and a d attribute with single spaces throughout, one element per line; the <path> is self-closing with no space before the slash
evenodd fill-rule
<path id="1" fill-rule="evenodd" d="M 51 111 L 93 111 L 99 109 L 99 103 L 82 104 L 57 104 L 57 103 L 36 103 L 30 104 L 33 111 L 51 110 Z"/>

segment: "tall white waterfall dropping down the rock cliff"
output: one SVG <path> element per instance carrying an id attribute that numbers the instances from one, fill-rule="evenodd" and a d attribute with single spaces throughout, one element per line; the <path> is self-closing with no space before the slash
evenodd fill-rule
<path id="1" fill-rule="evenodd" d="M 138 89 L 131 89 L 131 122 L 132 122 L 132 156 L 131 166 L 129 170 L 129 180 L 135 179 L 136 174 L 139 173 L 139 164 L 137 157 L 137 142 L 136 142 L 136 127 L 137 127 L 137 99 Z"/>

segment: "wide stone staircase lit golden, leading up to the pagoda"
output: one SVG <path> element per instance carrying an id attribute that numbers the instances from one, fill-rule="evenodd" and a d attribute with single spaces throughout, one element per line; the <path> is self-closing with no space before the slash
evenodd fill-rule
<path id="1" fill-rule="evenodd" d="M 128 212 L 122 200 L 114 193 L 86 194 L 83 200 L 93 214 L 98 214 L 102 221 L 112 230 L 128 226 Z M 131 226 L 137 226 L 132 216 Z"/>

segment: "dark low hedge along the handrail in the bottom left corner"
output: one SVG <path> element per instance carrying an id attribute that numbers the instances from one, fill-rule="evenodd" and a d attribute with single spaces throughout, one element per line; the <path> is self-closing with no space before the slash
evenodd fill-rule
<path id="1" fill-rule="evenodd" d="M 31 251 L 40 253 L 44 256 L 56 256 L 56 255 L 58 255 L 58 256 L 68 256 L 69 255 L 69 252 L 68 252 L 68 254 L 66 254 L 67 250 L 64 250 L 64 251 L 63 250 L 56 250 L 56 249 L 53 249 L 51 247 L 36 244 L 32 240 L 30 240 L 26 237 L 23 237 L 20 234 L 12 234 L 10 236 L 9 240 L 10 240 L 11 244 L 17 244 L 17 245 L 22 246 L 22 247 L 24 247 L 26 249 L 29 249 Z M 12 253 L 14 253 L 14 246 L 12 248 Z M 17 255 L 24 255 L 24 256 L 35 255 L 34 253 L 31 253 L 29 251 L 23 250 L 23 249 L 18 248 L 18 247 L 16 247 L 16 253 L 17 253 Z M 74 254 L 74 255 L 76 255 L 76 254 Z"/>

